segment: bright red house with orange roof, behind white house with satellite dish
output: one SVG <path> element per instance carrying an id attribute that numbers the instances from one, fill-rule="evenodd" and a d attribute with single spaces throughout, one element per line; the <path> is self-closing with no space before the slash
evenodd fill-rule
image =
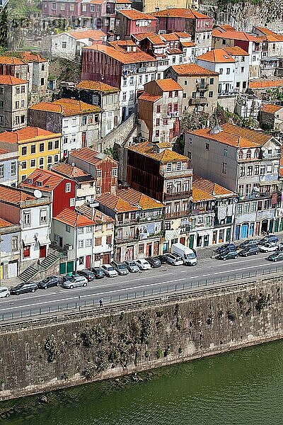
<path id="1" fill-rule="evenodd" d="M 52 202 L 52 217 L 56 217 L 64 208 L 71 210 L 75 208 L 75 181 L 59 176 L 53 171 L 35 169 L 21 183 L 21 187 L 31 193 L 37 190 L 49 195 Z"/>

